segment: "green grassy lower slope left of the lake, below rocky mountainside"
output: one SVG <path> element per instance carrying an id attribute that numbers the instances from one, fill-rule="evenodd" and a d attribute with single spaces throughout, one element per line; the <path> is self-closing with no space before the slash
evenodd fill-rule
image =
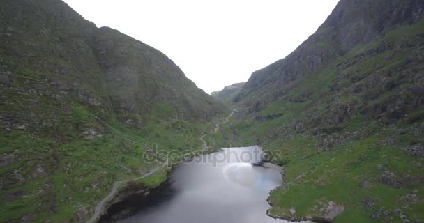
<path id="1" fill-rule="evenodd" d="M 6 181 L 6 188 L 1 190 L 1 222 L 19 222 L 27 213 L 36 213 L 35 222 L 83 221 L 75 212 L 80 208 L 91 212 L 114 181 L 141 176 L 158 165 L 147 163 L 142 155 L 153 144 L 165 150 L 199 150 L 200 135 L 212 129 L 208 123 L 163 121 L 154 116 L 142 129 L 115 118 L 100 123 L 83 105 L 74 105 L 71 112 L 62 115 L 60 126 L 52 127 L 52 131 L 75 135 L 64 144 L 31 130 L 1 132 L 1 153 L 17 157 L 16 162 L 1 169 Z M 98 125 L 107 129 L 102 137 L 89 140 L 81 133 L 84 126 Z M 45 176 L 35 177 L 38 165 Z M 16 180 L 14 171 L 25 180 Z M 158 174 L 146 180 L 147 186 L 154 186 L 165 178 Z M 20 193 L 22 197 L 12 198 Z"/>

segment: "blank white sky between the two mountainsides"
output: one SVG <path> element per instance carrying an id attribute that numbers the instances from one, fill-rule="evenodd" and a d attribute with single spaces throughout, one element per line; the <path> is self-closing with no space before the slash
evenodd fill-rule
<path id="1" fill-rule="evenodd" d="M 64 0 L 166 54 L 206 93 L 282 59 L 312 35 L 338 0 Z"/>

